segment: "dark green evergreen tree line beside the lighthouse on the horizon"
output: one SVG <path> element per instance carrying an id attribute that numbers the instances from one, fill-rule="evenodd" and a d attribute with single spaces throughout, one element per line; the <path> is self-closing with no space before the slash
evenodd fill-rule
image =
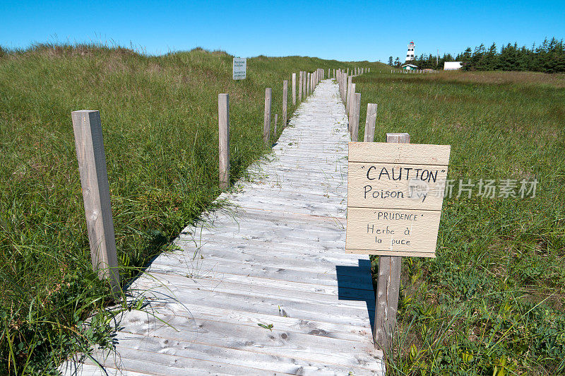
<path id="1" fill-rule="evenodd" d="M 518 47 L 515 42 L 503 45 L 501 49 L 493 43 L 489 48 L 481 44 L 475 49 L 467 47 L 456 56 L 444 54 L 439 57 L 432 54 L 421 54 L 410 64 L 419 69 L 443 69 L 445 61 L 461 61 L 465 71 L 538 71 L 545 73 L 565 72 L 565 44 L 563 40 L 552 37 L 540 45 L 531 48 Z M 391 66 L 401 66 L 403 63 L 397 57 L 388 58 Z"/>

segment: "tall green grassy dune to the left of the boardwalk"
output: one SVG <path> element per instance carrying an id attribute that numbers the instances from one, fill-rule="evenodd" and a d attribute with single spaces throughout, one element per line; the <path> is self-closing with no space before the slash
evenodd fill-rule
<path id="1" fill-rule="evenodd" d="M 220 192 L 218 93 L 230 93 L 234 181 L 269 151 L 266 87 L 273 119 L 281 119 L 283 80 L 292 72 L 377 65 L 255 57 L 246 80 L 232 81 L 232 56 L 202 49 L 162 57 L 93 46 L 3 51 L 0 374 L 55 373 L 73 351 L 111 346 L 109 288 L 91 271 L 71 111 L 100 110 L 127 281 Z M 290 95 L 288 102 L 292 114 Z"/>

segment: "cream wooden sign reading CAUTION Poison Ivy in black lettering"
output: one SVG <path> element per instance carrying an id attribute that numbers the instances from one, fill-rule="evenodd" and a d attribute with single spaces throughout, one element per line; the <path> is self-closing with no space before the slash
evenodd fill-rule
<path id="1" fill-rule="evenodd" d="M 450 149 L 350 142 L 346 251 L 435 257 Z"/>

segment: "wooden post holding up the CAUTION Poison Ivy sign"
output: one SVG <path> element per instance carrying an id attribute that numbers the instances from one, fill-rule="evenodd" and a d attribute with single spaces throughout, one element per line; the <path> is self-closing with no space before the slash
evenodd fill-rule
<path id="1" fill-rule="evenodd" d="M 410 143 L 410 134 L 387 133 L 386 142 Z M 379 257 L 373 339 L 375 347 L 378 346 L 383 352 L 390 353 L 396 329 L 401 264 L 402 257 L 400 256 Z"/>

